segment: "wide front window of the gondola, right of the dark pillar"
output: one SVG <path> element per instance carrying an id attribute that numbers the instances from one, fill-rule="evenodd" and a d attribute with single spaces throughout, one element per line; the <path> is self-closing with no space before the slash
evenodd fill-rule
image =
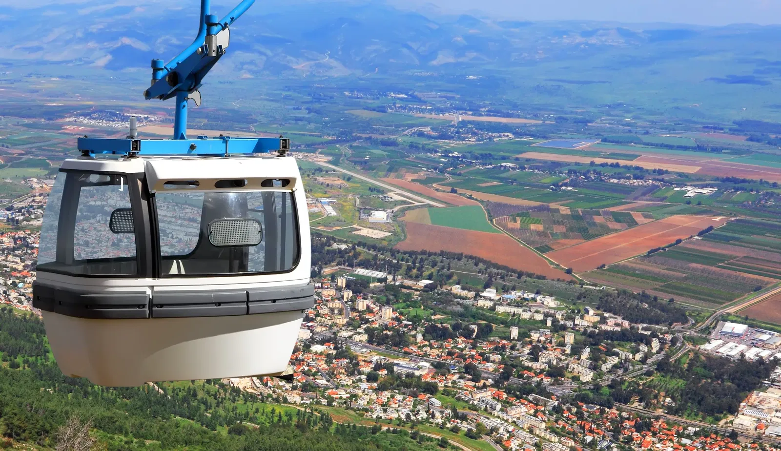
<path id="1" fill-rule="evenodd" d="M 164 277 L 286 272 L 298 261 L 291 192 L 158 193 L 155 205 Z"/>

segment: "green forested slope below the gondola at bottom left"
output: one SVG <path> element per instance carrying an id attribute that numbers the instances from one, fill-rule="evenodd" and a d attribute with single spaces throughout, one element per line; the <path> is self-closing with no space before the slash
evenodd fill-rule
<path id="1" fill-rule="evenodd" d="M 69 418 L 91 421 L 93 449 L 254 451 L 261 449 L 437 449 L 408 431 L 334 424 L 327 414 L 260 402 L 219 381 L 105 388 L 68 378 L 51 360 L 43 322 L 0 309 L 0 434 L 54 449 Z M 315 407 L 316 410 L 316 407 Z M 417 439 L 417 441 L 415 441 Z"/>

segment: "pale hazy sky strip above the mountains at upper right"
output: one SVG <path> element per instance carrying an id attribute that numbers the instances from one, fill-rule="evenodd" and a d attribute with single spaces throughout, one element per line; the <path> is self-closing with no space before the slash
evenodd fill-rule
<path id="1" fill-rule="evenodd" d="M 781 23 L 781 0 L 389 0 L 445 12 L 483 12 L 526 20 L 616 20 L 701 25 Z"/>

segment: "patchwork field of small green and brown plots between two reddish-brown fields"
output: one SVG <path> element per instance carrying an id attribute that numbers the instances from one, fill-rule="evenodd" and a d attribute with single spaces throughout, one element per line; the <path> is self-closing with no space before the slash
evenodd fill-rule
<path id="1" fill-rule="evenodd" d="M 498 217 L 494 223 L 524 243 L 546 253 L 651 221 L 653 216 L 648 213 L 540 205 L 531 210 Z"/>

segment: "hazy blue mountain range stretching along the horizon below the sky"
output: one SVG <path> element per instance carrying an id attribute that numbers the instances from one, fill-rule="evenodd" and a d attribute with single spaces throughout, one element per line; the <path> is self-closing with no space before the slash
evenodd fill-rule
<path id="1" fill-rule="evenodd" d="M 150 59 L 168 61 L 197 31 L 196 0 L 41 1 L 0 13 L 0 83 L 4 72 L 77 76 L 95 98 L 109 86 L 111 98 L 130 87 L 121 92 L 137 98 Z M 209 76 L 212 93 L 222 76 L 238 90 L 225 98 L 301 82 L 289 91 L 447 91 L 488 108 L 781 122 L 779 26 L 524 22 L 383 2 L 271 1 L 235 24 L 230 55 Z"/>

